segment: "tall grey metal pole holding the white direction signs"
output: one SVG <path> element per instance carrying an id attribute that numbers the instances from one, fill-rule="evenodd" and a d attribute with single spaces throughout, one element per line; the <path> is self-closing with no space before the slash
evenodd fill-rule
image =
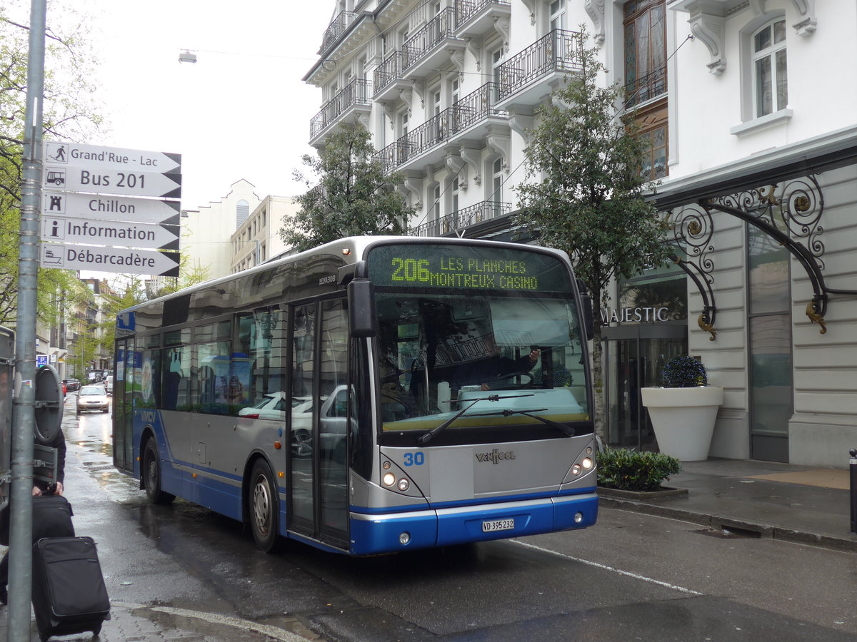
<path id="1" fill-rule="evenodd" d="M 18 321 L 15 328 L 15 425 L 9 520 L 9 642 L 30 639 L 33 582 L 33 432 L 35 427 L 36 287 L 42 180 L 42 100 L 45 92 L 46 0 L 30 3 L 27 112 L 18 244 Z"/>

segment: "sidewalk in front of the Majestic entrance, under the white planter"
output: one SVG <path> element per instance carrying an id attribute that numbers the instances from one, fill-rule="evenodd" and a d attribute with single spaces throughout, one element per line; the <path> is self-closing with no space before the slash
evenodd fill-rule
<path id="1" fill-rule="evenodd" d="M 847 459 L 846 459 L 847 461 Z M 857 552 L 851 531 L 850 472 L 770 461 L 685 461 L 665 484 L 685 495 L 617 496 L 601 505 L 690 521 L 715 530 Z"/>

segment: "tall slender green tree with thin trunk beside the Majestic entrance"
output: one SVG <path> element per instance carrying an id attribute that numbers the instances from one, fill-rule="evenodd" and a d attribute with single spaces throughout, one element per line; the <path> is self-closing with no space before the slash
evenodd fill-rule
<path id="1" fill-rule="evenodd" d="M 565 250 L 595 303 L 592 350 L 595 421 L 605 436 L 602 318 L 608 284 L 662 265 L 671 254 L 667 223 L 644 199 L 640 174 L 646 146 L 633 115 L 623 114 L 623 90 L 603 86 L 596 49 L 586 49 L 582 71 L 536 110 L 537 126 L 526 150 L 527 179 L 518 187 L 519 221 L 540 242 Z"/>

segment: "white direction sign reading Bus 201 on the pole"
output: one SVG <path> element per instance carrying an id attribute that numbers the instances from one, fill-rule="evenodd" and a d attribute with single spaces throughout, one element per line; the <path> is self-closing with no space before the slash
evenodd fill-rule
<path id="1" fill-rule="evenodd" d="M 165 199 L 182 196 L 181 174 L 158 174 L 138 169 L 90 169 L 45 163 L 42 185 L 67 192 L 157 196 Z"/>

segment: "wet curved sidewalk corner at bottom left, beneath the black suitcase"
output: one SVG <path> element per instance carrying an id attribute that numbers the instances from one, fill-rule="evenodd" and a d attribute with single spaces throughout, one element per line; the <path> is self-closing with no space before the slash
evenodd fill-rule
<path id="1" fill-rule="evenodd" d="M 0 606 L 0 639 L 3 640 L 6 639 L 6 609 Z M 113 601 L 111 619 L 105 621 L 98 638 L 93 638 L 90 632 L 51 638 L 57 642 L 93 639 L 97 642 L 321 642 L 321 638 L 294 618 L 282 617 L 276 622 L 259 624 L 225 615 Z M 30 640 L 39 642 L 32 615 Z"/>

